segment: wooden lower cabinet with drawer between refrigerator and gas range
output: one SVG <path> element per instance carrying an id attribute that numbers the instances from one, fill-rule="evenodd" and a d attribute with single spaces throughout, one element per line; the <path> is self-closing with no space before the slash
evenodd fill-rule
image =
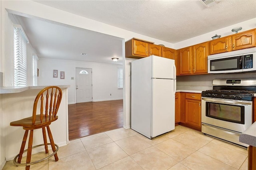
<path id="1" fill-rule="evenodd" d="M 201 130 L 201 93 L 180 92 L 180 125 Z"/>

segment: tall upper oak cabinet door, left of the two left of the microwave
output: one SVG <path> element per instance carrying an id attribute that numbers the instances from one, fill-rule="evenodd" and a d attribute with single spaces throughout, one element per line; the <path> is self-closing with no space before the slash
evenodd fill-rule
<path id="1" fill-rule="evenodd" d="M 191 73 L 191 47 L 180 49 L 179 56 L 180 56 L 180 74 L 190 74 Z"/>

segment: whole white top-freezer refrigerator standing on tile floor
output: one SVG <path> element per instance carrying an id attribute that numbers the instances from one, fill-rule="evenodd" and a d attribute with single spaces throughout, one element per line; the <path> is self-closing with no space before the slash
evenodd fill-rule
<path id="1" fill-rule="evenodd" d="M 175 128 L 176 67 L 150 55 L 131 63 L 131 128 L 154 138 Z"/>

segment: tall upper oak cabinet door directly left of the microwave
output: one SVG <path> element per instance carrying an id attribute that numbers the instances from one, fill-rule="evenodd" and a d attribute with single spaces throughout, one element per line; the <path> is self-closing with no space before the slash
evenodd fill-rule
<path id="1" fill-rule="evenodd" d="M 193 73 L 207 73 L 208 43 L 193 46 Z"/>

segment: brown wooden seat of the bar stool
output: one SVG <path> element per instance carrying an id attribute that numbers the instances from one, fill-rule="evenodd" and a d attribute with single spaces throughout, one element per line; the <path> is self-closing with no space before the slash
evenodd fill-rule
<path id="1" fill-rule="evenodd" d="M 58 119 L 58 116 L 56 116 L 50 120 L 44 119 L 44 121 L 41 123 L 40 117 L 41 117 L 41 115 L 36 115 L 35 124 L 32 124 L 33 117 L 27 117 L 24 119 L 20 119 L 18 121 L 11 122 L 10 126 L 23 127 L 24 129 L 28 129 L 28 128 L 37 129 L 37 128 L 49 126 L 53 121 L 56 121 Z M 43 117 L 45 118 L 45 115 L 43 115 Z"/>

